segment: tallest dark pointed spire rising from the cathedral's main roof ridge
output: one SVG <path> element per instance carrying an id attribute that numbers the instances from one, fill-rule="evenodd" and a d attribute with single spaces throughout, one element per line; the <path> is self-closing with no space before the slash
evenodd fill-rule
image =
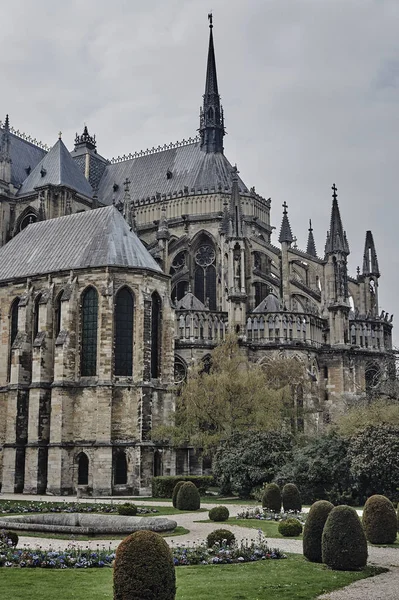
<path id="1" fill-rule="evenodd" d="M 213 16 L 209 19 L 209 49 L 206 69 L 205 94 L 200 109 L 201 150 L 204 152 L 223 152 L 225 134 L 223 108 L 220 104 L 218 81 L 216 74 L 215 49 L 213 46 Z"/>

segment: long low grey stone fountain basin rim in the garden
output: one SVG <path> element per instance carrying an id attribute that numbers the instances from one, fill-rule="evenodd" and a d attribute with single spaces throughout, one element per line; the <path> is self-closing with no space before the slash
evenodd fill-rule
<path id="1" fill-rule="evenodd" d="M 173 531 L 176 521 L 163 517 L 126 517 L 82 513 L 41 513 L 3 517 L 0 529 L 69 533 L 71 535 L 129 534 L 146 529 L 158 533 Z"/>

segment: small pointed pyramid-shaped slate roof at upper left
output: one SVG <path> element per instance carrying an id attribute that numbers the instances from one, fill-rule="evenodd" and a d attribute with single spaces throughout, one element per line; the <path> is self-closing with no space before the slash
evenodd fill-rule
<path id="1" fill-rule="evenodd" d="M 25 173 L 26 175 L 26 173 Z M 62 185 L 91 198 L 93 190 L 78 165 L 72 159 L 64 142 L 59 139 L 33 169 L 18 190 L 18 196 L 34 192 L 45 185 Z"/>

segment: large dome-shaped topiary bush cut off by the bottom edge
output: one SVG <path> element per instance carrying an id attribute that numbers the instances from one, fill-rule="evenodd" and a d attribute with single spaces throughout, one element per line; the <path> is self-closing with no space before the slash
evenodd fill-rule
<path id="1" fill-rule="evenodd" d="M 172 553 L 162 536 L 136 531 L 118 546 L 114 564 L 114 600 L 175 600 Z"/>

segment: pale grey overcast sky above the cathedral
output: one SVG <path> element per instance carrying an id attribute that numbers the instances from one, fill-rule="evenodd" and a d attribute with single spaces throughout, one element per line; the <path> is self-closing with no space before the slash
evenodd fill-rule
<path id="1" fill-rule="evenodd" d="M 398 0 L 3 2 L 1 118 L 70 149 L 87 123 L 106 158 L 195 135 L 210 9 L 230 162 L 320 255 L 335 182 L 350 272 L 372 229 L 399 317 Z"/>

